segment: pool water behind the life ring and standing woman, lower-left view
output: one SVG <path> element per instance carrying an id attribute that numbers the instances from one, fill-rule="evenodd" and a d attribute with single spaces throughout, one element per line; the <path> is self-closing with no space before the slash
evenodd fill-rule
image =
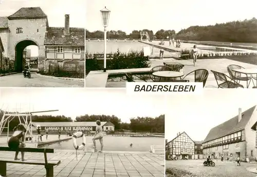
<path id="1" fill-rule="evenodd" d="M 86 136 L 86 144 L 93 144 L 93 136 Z M 130 147 L 130 144 L 133 144 Z M 82 138 L 77 138 L 77 144 L 82 144 Z M 151 145 L 163 146 L 164 137 L 130 137 L 130 136 L 109 136 L 103 137 L 103 150 L 105 151 L 150 151 Z M 96 148 L 100 149 L 100 142 L 96 140 Z M 72 150 L 74 146 L 72 139 L 46 146 L 53 149 Z"/>

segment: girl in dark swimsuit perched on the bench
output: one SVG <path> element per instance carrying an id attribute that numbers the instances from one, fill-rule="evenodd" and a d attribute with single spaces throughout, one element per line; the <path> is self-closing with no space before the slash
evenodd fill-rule
<path id="1" fill-rule="evenodd" d="M 14 127 L 13 129 L 14 133 L 12 135 L 12 137 L 9 139 L 8 141 L 8 146 L 9 148 L 11 148 L 12 150 L 18 150 L 20 147 L 25 147 L 24 139 L 25 139 L 25 132 L 27 131 L 25 126 L 20 123 L 19 125 L 17 125 L 16 127 Z M 26 159 L 24 158 L 24 152 L 22 153 L 22 161 L 26 161 Z M 20 160 L 20 158 L 18 158 L 18 154 L 19 154 L 19 150 L 15 152 L 15 157 L 14 160 Z"/>

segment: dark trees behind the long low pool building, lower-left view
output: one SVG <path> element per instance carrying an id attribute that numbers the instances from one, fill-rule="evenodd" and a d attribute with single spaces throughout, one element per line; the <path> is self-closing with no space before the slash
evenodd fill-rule
<path id="1" fill-rule="evenodd" d="M 2 119 L 4 112 L 0 110 L 0 120 Z M 153 133 L 164 133 L 164 115 L 159 117 L 137 117 L 131 118 L 130 123 L 124 123 L 115 115 L 83 115 L 76 117 L 75 121 L 111 121 L 115 125 L 115 130 L 131 130 L 133 132 L 153 132 Z M 33 115 L 33 122 L 71 122 L 71 117 L 64 115 L 52 116 L 52 115 Z M 9 130 L 13 130 L 15 126 L 19 124 L 19 118 L 14 118 L 9 123 Z M 6 124 L 7 127 L 7 124 Z M 6 129 L 7 130 L 7 129 Z M 5 130 L 5 131 L 6 131 Z"/>

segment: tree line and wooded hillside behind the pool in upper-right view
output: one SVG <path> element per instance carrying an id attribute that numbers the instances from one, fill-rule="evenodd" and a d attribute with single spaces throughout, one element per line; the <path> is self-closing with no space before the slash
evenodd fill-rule
<path id="1" fill-rule="evenodd" d="M 140 31 L 147 31 L 150 39 L 162 40 L 167 37 L 187 41 L 218 41 L 218 42 L 257 42 L 257 20 L 233 21 L 209 26 L 190 26 L 187 29 L 158 30 L 155 34 L 152 30 L 134 30 L 130 34 L 124 31 L 108 31 L 108 39 L 140 39 Z M 86 39 L 103 39 L 103 31 L 90 32 L 86 30 Z"/>

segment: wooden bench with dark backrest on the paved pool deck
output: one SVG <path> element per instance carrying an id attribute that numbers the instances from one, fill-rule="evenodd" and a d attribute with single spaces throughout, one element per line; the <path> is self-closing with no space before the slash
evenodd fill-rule
<path id="1" fill-rule="evenodd" d="M 13 158 L 3 158 L 0 157 L 0 175 L 6 176 L 7 171 L 7 163 L 14 163 L 14 164 L 28 164 L 28 165 L 44 165 L 46 169 L 46 176 L 52 177 L 53 176 L 53 166 L 59 165 L 61 161 L 48 161 L 46 153 L 53 153 L 53 149 L 41 149 L 41 148 L 19 148 L 19 152 L 38 152 L 38 153 L 44 153 L 45 160 L 30 160 L 27 161 L 14 161 L 14 154 Z M 14 151 L 10 149 L 9 147 L 0 147 L 0 151 Z M 25 153 L 26 157 L 26 153 Z"/>

